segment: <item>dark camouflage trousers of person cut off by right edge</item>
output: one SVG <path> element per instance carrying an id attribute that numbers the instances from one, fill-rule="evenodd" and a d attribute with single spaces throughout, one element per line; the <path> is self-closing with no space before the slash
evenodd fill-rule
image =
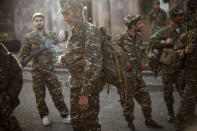
<path id="1" fill-rule="evenodd" d="M 190 122 L 195 120 L 194 111 L 197 104 L 197 81 L 187 80 L 183 92 L 183 98 L 178 114 L 176 115 L 175 126 L 184 131 Z"/>

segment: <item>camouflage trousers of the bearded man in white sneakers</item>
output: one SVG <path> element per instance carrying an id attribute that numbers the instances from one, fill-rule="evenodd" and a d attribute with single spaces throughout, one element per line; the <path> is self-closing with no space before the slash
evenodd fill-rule
<path id="1" fill-rule="evenodd" d="M 64 102 L 64 97 L 61 92 L 61 84 L 58 81 L 57 76 L 51 73 L 33 73 L 33 91 L 36 97 L 36 103 L 38 112 L 41 118 L 49 114 L 47 108 L 45 97 L 46 97 L 46 87 L 52 97 L 52 100 L 60 112 L 62 117 L 66 117 L 69 114 L 68 108 Z"/>

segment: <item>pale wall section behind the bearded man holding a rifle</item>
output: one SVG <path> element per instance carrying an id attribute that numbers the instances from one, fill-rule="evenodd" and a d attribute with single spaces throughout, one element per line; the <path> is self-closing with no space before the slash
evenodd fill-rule
<path id="1" fill-rule="evenodd" d="M 36 12 L 45 14 L 47 30 L 58 32 L 65 28 L 61 14 L 58 14 L 58 0 L 15 0 L 14 7 L 16 38 L 20 41 L 34 29 L 32 15 Z"/>

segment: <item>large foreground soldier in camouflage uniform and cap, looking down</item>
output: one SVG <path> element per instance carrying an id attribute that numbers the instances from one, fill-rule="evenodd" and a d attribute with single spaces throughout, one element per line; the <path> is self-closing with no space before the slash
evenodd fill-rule
<path id="1" fill-rule="evenodd" d="M 60 5 L 69 26 L 69 35 L 63 37 L 68 43 L 61 64 L 70 73 L 72 127 L 74 131 L 100 131 L 99 93 L 104 85 L 101 32 L 83 17 L 79 0 L 60 0 Z"/>

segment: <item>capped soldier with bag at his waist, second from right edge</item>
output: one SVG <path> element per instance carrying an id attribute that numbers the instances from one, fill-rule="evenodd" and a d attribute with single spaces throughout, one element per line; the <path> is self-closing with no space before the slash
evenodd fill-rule
<path id="1" fill-rule="evenodd" d="M 160 51 L 165 49 L 173 50 L 176 48 L 177 39 L 185 32 L 185 27 L 182 26 L 184 22 L 184 12 L 175 7 L 170 10 L 170 16 L 172 23 L 169 26 L 160 29 L 150 38 L 150 44 L 154 49 Z M 164 53 L 164 51 L 162 53 Z M 165 58 L 167 58 L 167 56 Z M 168 109 L 167 119 L 169 123 L 172 123 L 174 121 L 173 84 L 175 84 L 181 95 L 184 88 L 184 85 L 182 84 L 182 70 L 176 65 L 176 63 L 161 63 L 160 69 L 164 86 L 164 100 Z"/>

